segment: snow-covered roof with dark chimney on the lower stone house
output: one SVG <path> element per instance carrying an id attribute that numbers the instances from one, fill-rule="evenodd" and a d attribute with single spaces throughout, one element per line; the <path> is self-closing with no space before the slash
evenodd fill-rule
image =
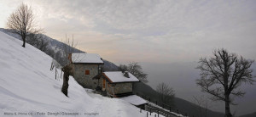
<path id="1" fill-rule="evenodd" d="M 139 81 L 137 77 L 128 72 L 129 78 L 125 77 L 122 71 L 108 71 L 103 72 L 103 75 L 107 76 L 111 83 L 114 82 L 133 82 Z"/>

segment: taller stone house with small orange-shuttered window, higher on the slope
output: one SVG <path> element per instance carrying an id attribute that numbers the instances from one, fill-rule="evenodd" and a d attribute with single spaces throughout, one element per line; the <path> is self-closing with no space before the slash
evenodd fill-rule
<path id="1" fill-rule="evenodd" d="M 102 74 L 103 61 L 96 53 L 69 53 L 68 59 L 73 67 L 73 78 L 85 88 L 96 88 L 96 75 Z"/>

